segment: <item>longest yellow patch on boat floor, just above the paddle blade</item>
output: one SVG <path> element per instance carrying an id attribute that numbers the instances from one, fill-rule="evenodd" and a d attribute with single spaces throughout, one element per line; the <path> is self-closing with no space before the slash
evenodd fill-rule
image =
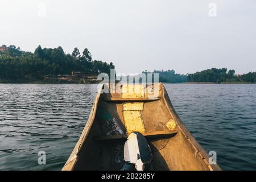
<path id="1" fill-rule="evenodd" d="M 141 117 L 141 111 L 123 111 L 123 119 L 125 121 L 126 133 L 130 134 L 133 131 L 140 133 L 146 132 L 144 123 Z"/>

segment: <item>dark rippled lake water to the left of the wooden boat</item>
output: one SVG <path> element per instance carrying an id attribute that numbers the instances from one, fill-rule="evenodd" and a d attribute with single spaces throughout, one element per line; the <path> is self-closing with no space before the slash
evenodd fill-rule
<path id="1" fill-rule="evenodd" d="M 59 170 L 89 117 L 97 85 L 0 84 L 0 170 Z M 47 164 L 38 164 L 45 151 Z"/>

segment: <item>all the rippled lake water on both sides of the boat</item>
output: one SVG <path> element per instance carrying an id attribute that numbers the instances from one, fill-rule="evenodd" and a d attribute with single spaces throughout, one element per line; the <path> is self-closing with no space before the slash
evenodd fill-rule
<path id="1" fill-rule="evenodd" d="M 222 169 L 256 170 L 255 84 L 165 84 L 180 118 Z M 0 170 L 60 170 L 97 85 L 0 84 Z M 46 165 L 38 152 L 46 152 Z"/>

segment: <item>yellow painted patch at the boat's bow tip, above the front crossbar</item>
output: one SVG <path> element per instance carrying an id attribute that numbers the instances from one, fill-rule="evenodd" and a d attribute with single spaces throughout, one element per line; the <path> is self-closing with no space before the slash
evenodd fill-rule
<path id="1" fill-rule="evenodd" d="M 122 98 L 143 98 L 144 85 L 124 84 L 122 87 Z"/>

